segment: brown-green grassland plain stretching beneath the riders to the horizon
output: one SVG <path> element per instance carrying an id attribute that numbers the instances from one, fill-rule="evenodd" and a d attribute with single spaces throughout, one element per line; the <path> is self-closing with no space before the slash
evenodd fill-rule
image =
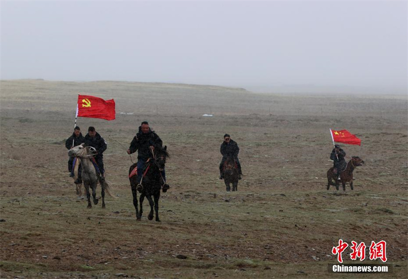
<path id="1" fill-rule="evenodd" d="M 108 142 L 107 181 L 117 198 L 106 209 L 87 209 L 67 173 L 78 92 L 116 102 L 116 120 L 78 119 Z M 1 82 L 0 102 L 2 277 L 406 278 L 406 96 L 19 80 Z M 171 154 L 160 223 L 146 215 L 136 222 L 127 179 L 125 150 L 143 120 Z M 343 145 L 366 162 L 353 191 L 326 190 L 329 128 L 362 139 Z M 241 148 L 238 192 L 218 180 L 225 133 Z M 328 273 L 339 239 L 387 241 L 392 273 Z M 350 252 L 346 263 L 354 263 Z"/>

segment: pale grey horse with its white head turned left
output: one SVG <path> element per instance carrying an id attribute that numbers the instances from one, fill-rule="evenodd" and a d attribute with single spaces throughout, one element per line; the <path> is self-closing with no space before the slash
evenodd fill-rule
<path id="1" fill-rule="evenodd" d="M 77 157 L 81 161 L 82 165 L 82 181 L 86 190 L 86 197 L 88 198 L 88 208 L 92 208 L 91 205 L 91 194 L 89 192 L 89 187 L 92 189 L 93 204 L 98 204 L 98 199 L 96 198 L 96 186 L 98 183 L 99 173 L 96 172 L 91 160 L 95 155 L 96 150 L 93 147 L 85 146 L 85 143 L 78 146 L 72 147 L 68 150 L 68 156 Z M 113 197 L 109 191 L 109 185 L 106 181 L 100 182 L 102 188 L 102 208 L 105 208 L 105 191 Z"/>

